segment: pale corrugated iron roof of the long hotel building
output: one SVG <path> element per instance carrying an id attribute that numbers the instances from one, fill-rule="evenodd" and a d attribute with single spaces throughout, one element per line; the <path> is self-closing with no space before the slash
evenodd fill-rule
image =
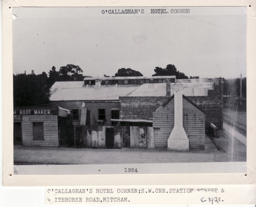
<path id="1" fill-rule="evenodd" d="M 163 76 L 162 76 L 163 77 Z M 169 76 L 170 77 L 170 76 Z M 173 88 L 171 83 L 171 95 Z M 184 95 L 207 96 L 213 83 L 182 83 Z M 166 96 L 166 83 L 144 83 L 143 85 L 102 85 L 100 89 L 84 86 L 79 82 L 55 82 L 52 86 L 50 101 L 103 101 L 119 100 L 119 96 Z"/>

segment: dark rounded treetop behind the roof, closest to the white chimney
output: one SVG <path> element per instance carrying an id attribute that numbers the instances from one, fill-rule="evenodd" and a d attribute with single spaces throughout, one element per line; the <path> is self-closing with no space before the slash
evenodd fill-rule
<path id="1" fill-rule="evenodd" d="M 155 74 L 152 76 L 176 76 L 176 79 L 188 79 L 184 73 L 177 71 L 176 67 L 173 64 L 168 64 L 166 68 L 156 67 L 154 69 Z"/>

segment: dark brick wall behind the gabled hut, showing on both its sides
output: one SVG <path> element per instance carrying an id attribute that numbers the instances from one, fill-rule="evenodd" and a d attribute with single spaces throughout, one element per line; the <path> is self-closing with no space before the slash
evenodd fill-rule
<path id="1" fill-rule="evenodd" d="M 213 123 L 219 130 L 223 130 L 223 81 L 216 80 L 214 90 L 208 90 L 208 96 L 187 96 L 206 112 L 206 128 Z M 169 96 L 158 97 L 119 97 L 121 119 L 153 119 L 153 112 Z"/>

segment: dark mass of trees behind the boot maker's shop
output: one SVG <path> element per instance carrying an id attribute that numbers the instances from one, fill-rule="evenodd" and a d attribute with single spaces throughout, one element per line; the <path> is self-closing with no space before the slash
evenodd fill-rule
<path id="1" fill-rule="evenodd" d="M 14 107 L 43 105 L 49 103 L 50 88 L 56 81 L 83 81 L 83 70 L 68 64 L 56 71 L 55 66 L 41 75 L 19 74 L 13 76 Z"/>

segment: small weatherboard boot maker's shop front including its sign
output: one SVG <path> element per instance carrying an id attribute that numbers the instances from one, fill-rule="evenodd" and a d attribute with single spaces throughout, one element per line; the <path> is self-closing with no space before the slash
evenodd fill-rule
<path id="1" fill-rule="evenodd" d="M 58 147 L 58 110 L 15 108 L 14 144 Z"/>

